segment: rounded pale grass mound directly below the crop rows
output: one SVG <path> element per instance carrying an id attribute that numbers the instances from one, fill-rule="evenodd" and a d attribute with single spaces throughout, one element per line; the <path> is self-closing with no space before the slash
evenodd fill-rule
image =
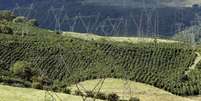
<path id="1" fill-rule="evenodd" d="M 92 90 L 99 81 L 100 80 L 89 80 L 79 83 L 78 86 L 82 91 Z M 97 87 L 97 89 L 99 87 Z M 72 91 L 77 90 L 76 85 L 73 85 L 70 88 Z M 131 96 L 136 96 L 140 98 L 140 101 L 199 101 L 176 96 L 143 83 L 120 79 L 106 79 L 100 91 L 106 94 L 117 93 L 121 96 L 121 99 L 129 99 Z"/>

